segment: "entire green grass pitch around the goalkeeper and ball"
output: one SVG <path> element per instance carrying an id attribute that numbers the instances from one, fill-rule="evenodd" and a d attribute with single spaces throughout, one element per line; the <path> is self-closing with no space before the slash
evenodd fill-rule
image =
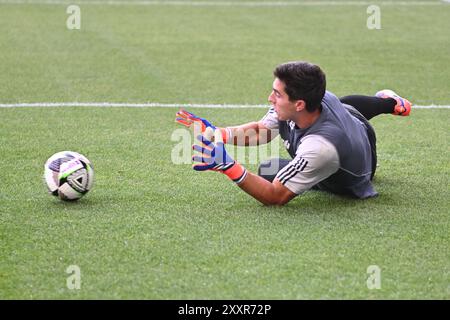
<path id="1" fill-rule="evenodd" d="M 264 104 L 273 68 L 300 59 L 337 95 L 450 102 L 443 3 L 381 5 L 381 30 L 367 29 L 364 5 L 81 4 L 80 30 L 66 28 L 66 7 L 0 2 L 0 103 Z M 448 109 L 371 121 L 379 197 L 311 191 L 284 207 L 174 165 L 175 111 L 0 108 L 0 299 L 450 298 Z M 217 125 L 265 113 L 190 111 Z M 77 203 L 43 185 L 62 150 L 94 164 Z M 70 265 L 79 290 L 66 285 Z M 380 289 L 367 286 L 371 265 Z"/>

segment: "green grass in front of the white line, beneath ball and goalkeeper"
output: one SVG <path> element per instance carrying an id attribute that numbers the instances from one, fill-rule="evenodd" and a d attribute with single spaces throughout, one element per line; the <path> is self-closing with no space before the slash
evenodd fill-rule
<path id="1" fill-rule="evenodd" d="M 0 110 L 3 298 L 449 296 L 446 110 L 372 121 L 378 198 L 312 191 L 283 208 L 261 206 L 223 175 L 173 165 L 173 110 L 61 111 Z M 217 125 L 264 114 L 192 111 Z M 47 157 L 67 149 L 96 173 L 74 204 L 46 194 L 41 178 Z M 69 265 L 81 268 L 81 290 L 66 287 Z M 366 286 L 369 265 L 382 270 L 381 290 Z"/>

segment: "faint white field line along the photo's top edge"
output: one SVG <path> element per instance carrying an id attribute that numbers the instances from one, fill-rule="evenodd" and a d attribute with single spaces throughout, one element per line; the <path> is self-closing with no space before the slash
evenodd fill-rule
<path id="1" fill-rule="evenodd" d="M 123 0 L 0 0 L 0 4 L 43 4 L 43 5 L 103 5 L 103 6 L 191 6 L 191 7 L 289 7 L 289 6 L 436 6 L 450 0 L 436 1 L 123 1 Z"/>

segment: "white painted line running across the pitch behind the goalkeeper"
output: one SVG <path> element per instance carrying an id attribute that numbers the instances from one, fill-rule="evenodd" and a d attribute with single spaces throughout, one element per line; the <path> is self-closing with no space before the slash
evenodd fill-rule
<path id="1" fill-rule="evenodd" d="M 205 108 L 205 109 L 267 109 L 264 104 L 183 104 L 183 103 L 115 103 L 115 102 L 36 102 L 0 103 L 0 108 L 52 108 L 52 107 L 92 107 L 92 108 Z M 450 105 L 412 106 L 413 109 L 450 109 Z"/>

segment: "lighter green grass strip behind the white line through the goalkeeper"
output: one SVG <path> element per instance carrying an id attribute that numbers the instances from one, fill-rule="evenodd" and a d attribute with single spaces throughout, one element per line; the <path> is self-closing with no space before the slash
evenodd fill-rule
<path id="1" fill-rule="evenodd" d="M 379 31 L 356 8 L 87 7 L 79 31 L 57 7 L 0 15 L 2 103 L 264 104 L 273 68 L 296 59 L 319 63 L 339 96 L 391 88 L 417 105 L 448 103 L 446 9 L 386 9 Z"/>

